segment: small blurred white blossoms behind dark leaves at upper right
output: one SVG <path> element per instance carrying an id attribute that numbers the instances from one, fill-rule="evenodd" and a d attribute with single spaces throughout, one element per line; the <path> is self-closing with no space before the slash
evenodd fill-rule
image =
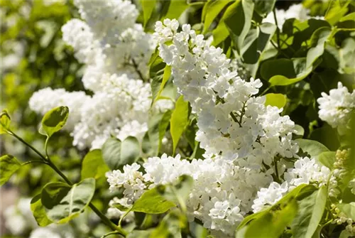
<path id="1" fill-rule="evenodd" d="M 282 29 L 283 28 L 283 23 L 287 19 L 290 18 L 296 18 L 299 21 L 306 21 L 310 18 L 315 18 L 319 20 L 323 20 L 324 16 L 310 16 L 310 9 L 306 9 L 302 4 L 293 4 L 290 6 L 287 10 L 284 9 L 276 9 L 275 15 L 276 15 L 276 21 L 278 21 L 278 28 Z M 275 23 L 275 17 L 273 15 L 273 12 L 268 13 L 268 16 L 266 18 L 263 18 L 263 22 L 269 22 L 269 23 Z"/>

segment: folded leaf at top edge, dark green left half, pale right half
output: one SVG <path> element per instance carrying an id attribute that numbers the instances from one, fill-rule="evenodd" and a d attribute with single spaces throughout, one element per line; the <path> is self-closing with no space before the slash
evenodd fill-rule
<path id="1" fill-rule="evenodd" d="M 251 18 L 253 16 L 254 4 L 251 0 L 236 1 L 230 11 L 224 13 L 224 23 L 228 28 L 231 39 L 236 47 L 236 52 L 241 55 L 241 48 L 244 45 L 244 39 L 251 27 Z M 229 8 L 231 8 L 231 6 Z M 229 10 L 228 8 L 228 10 Z"/>

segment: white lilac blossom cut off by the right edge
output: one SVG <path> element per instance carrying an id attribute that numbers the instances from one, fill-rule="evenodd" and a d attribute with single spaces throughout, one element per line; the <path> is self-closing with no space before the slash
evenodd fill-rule
<path id="1" fill-rule="evenodd" d="M 346 128 L 351 111 L 355 109 L 355 90 L 350 93 L 342 82 L 338 82 L 338 87 L 330 90 L 329 95 L 322 92 L 322 97 L 317 102 L 320 104 L 320 119 L 333 128 L 342 130 Z"/>

